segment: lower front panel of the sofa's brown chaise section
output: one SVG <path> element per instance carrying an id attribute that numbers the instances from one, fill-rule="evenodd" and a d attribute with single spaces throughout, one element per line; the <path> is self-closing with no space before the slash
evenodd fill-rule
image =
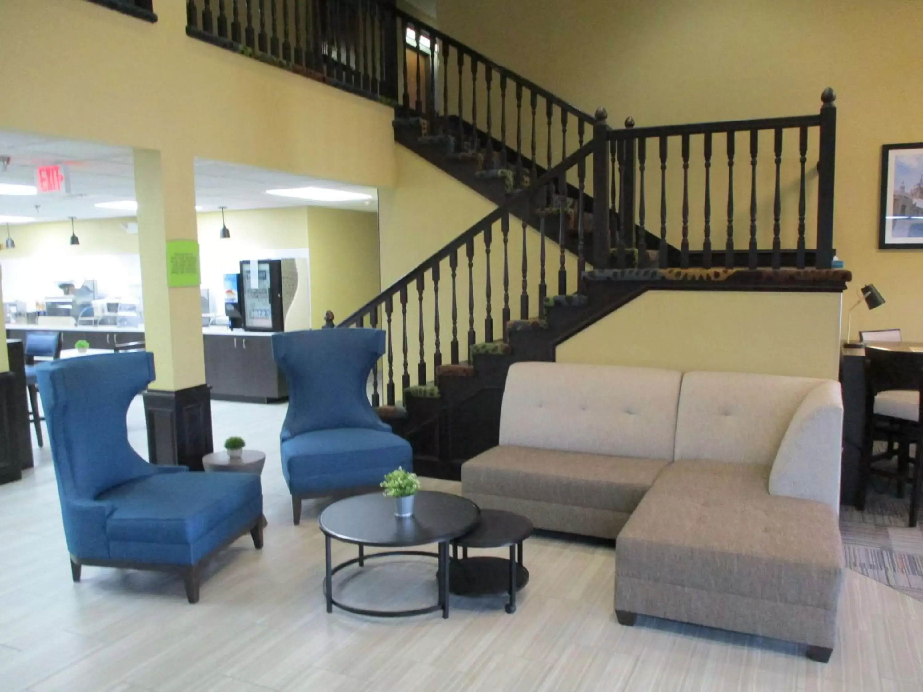
<path id="1" fill-rule="evenodd" d="M 619 612 L 808 644 L 809 658 L 814 661 L 823 660 L 823 651 L 830 658 L 836 631 L 835 610 L 761 601 L 622 575 L 616 579 L 616 613 Z"/>

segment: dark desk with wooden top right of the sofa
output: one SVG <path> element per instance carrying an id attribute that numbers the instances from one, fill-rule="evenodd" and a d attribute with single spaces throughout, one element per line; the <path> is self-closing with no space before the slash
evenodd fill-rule
<path id="1" fill-rule="evenodd" d="M 917 341 L 875 341 L 869 346 L 888 351 L 923 352 Z M 843 387 L 843 467 L 840 502 L 856 504 L 859 464 L 865 441 L 865 349 L 843 347 L 840 352 L 840 385 Z"/>

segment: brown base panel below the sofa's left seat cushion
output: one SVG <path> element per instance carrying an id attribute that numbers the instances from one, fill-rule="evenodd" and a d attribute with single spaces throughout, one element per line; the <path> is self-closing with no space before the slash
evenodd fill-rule
<path id="1" fill-rule="evenodd" d="M 593 507 L 572 507 L 551 502 L 523 500 L 519 497 L 464 493 L 464 496 L 482 509 L 504 509 L 521 514 L 531 520 L 536 529 L 563 531 L 582 536 L 615 540 L 629 520 L 628 512 L 616 512 Z"/>

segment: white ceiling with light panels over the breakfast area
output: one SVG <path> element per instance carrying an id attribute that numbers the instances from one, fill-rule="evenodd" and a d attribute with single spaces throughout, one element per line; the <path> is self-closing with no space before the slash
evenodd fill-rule
<path id="1" fill-rule="evenodd" d="M 10 158 L 6 171 L 0 166 L 0 184 L 36 185 L 36 167 L 62 164 L 66 168 L 70 192 L 36 196 L 0 195 L 0 215 L 32 217 L 36 221 L 106 219 L 132 216 L 132 212 L 100 209 L 100 202 L 135 198 L 135 171 L 132 151 L 90 142 L 68 141 L 16 132 L 0 131 L 0 157 Z M 252 166 L 197 159 L 196 205 L 202 211 L 228 209 L 270 209 L 306 205 L 378 210 L 378 191 L 374 187 L 344 185 L 303 175 L 266 171 Z M 332 187 L 361 192 L 372 199 L 352 202 L 313 202 L 292 197 L 267 195 L 266 190 L 288 187 Z M 39 205 L 39 209 L 35 209 Z"/>

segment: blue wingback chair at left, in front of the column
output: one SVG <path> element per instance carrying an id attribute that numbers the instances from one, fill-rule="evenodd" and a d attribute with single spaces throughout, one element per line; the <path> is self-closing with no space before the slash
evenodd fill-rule
<path id="1" fill-rule="evenodd" d="M 82 565 L 176 572 L 198 602 L 201 566 L 247 531 L 262 547 L 259 477 L 153 466 L 128 444 L 131 400 L 153 356 L 84 356 L 36 368 L 71 573 Z"/>

